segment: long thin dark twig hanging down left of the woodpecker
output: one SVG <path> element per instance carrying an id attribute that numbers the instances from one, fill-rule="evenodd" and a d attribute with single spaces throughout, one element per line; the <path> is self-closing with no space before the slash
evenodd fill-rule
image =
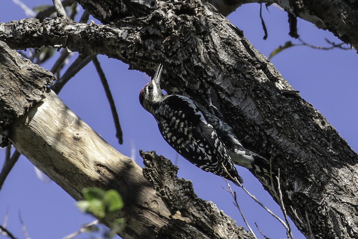
<path id="1" fill-rule="evenodd" d="M 101 82 L 102 82 L 102 85 L 103 85 L 103 89 L 105 89 L 105 92 L 106 92 L 107 100 L 110 103 L 112 117 L 113 117 L 114 125 L 115 125 L 115 128 L 116 128 L 116 137 L 118 139 L 118 143 L 122 144 L 123 143 L 123 132 L 122 132 L 122 129 L 121 129 L 121 124 L 119 123 L 119 118 L 118 118 L 116 105 L 114 103 L 113 96 L 112 96 L 110 87 L 108 85 L 107 78 L 105 76 L 105 73 L 102 70 L 101 64 L 98 61 L 97 56 L 92 59 L 92 62 L 96 67 L 98 76 L 100 76 L 100 79 L 101 79 Z"/>

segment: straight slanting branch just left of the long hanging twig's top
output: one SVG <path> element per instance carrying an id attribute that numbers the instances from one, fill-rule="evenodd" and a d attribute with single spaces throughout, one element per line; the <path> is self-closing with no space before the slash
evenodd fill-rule
<path id="1" fill-rule="evenodd" d="M 80 54 L 74 62 L 67 68 L 66 72 L 63 76 L 56 80 L 56 83 L 50 88 L 58 94 L 62 87 L 74 76 L 77 72 L 79 72 L 84 66 L 86 66 L 92 59 L 96 56 L 96 54 L 84 55 Z"/>

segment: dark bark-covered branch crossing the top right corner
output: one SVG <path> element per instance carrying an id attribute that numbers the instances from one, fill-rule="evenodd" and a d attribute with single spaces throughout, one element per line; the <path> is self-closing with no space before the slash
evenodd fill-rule
<path id="1" fill-rule="evenodd" d="M 242 4 L 277 4 L 287 13 L 309 21 L 318 28 L 328 29 L 342 42 L 351 45 L 355 49 L 358 47 L 358 5 L 355 1 L 208 0 L 208 2 L 215 6 L 224 16 L 232 13 Z"/>

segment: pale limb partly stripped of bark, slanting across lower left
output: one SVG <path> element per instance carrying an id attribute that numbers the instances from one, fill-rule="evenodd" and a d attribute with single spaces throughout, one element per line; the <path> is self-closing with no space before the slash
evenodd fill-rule
<path id="1" fill-rule="evenodd" d="M 14 64 L 20 64 L 21 67 L 14 67 Z M 0 115 L 0 121 L 9 119 L 9 139 L 15 148 L 76 200 L 83 199 L 83 187 L 117 190 L 125 203 L 125 207 L 117 215 L 126 220 L 126 226 L 120 232 L 124 239 L 182 239 L 192 238 L 193 235 L 203 239 L 253 238 L 251 233 L 237 226 L 234 220 L 219 211 L 212 202 L 198 199 L 192 185 L 185 181 L 179 182 L 176 173 L 155 177 L 160 174 L 163 176 L 164 169 L 157 163 L 158 156 L 147 153 L 146 172 L 153 175 L 150 182 L 165 186 L 157 188 L 162 194 L 160 196 L 178 195 L 172 197 L 170 202 L 180 205 L 183 203 L 182 197 L 176 193 L 180 193 L 178 190 L 181 187 L 180 190 L 188 197 L 186 203 L 191 205 L 189 210 L 179 207 L 173 210 L 174 207 L 168 201 L 163 201 L 158 196 L 159 193 L 156 195 L 153 185 L 143 177 L 142 169 L 134 161 L 117 152 L 99 137 L 52 91 L 45 88 L 45 84 L 36 84 L 39 82 L 38 76 L 43 76 L 44 81 L 53 77 L 51 73 L 24 61 L 3 42 L 0 42 L 0 68 L 0 98 L 13 99 L 4 101 L 7 104 L 0 102 L 0 110 L 9 107 L 22 114 L 11 117 Z M 13 75 L 16 77 L 12 78 Z M 23 84 L 24 78 L 27 84 Z M 16 89 L 8 90 L 13 86 Z M 42 97 L 33 99 L 33 94 L 24 94 L 23 90 L 37 92 L 36 95 Z M 28 107 L 26 103 L 19 104 L 17 99 L 23 102 L 33 100 L 33 105 Z M 5 137 L 6 133 L 0 131 L 0 135 Z M 150 160 L 154 162 L 150 163 Z M 165 167 L 173 166 L 167 163 Z M 149 173 L 146 175 L 149 177 Z M 176 187 L 172 184 L 174 180 L 178 182 L 175 183 Z M 196 213 L 185 213 L 188 211 Z M 106 225 L 110 225 L 113 219 L 115 217 L 108 218 Z M 171 228 L 175 233 L 169 233 Z"/>

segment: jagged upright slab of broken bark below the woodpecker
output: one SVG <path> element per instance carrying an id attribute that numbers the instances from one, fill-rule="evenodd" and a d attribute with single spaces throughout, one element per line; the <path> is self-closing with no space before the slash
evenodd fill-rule
<path id="1" fill-rule="evenodd" d="M 199 199 L 194 193 L 192 182 L 178 179 L 178 167 L 169 159 L 155 152 L 140 152 L 144 159 L 143 175 L 165 201 L 172 218 L 162 228 L 158 238 L 235 238 L 228 231 L 238 231 L 243 238 L 253 235 L 241 227 L 233 226 L 235 221 L 219 211 L 213 202 Z M 199 210 L 198 210 L 199 209 Z M 180 218 L 185 218 L 183 221 Z M 219 227 L 218 227 L 219 226 Z M 216 230 L 214 230 L 216 229 Z M 186 234 L 183 233 L 186 232 Z M 205 236 L 203 237 L 203 232 Z"/>

